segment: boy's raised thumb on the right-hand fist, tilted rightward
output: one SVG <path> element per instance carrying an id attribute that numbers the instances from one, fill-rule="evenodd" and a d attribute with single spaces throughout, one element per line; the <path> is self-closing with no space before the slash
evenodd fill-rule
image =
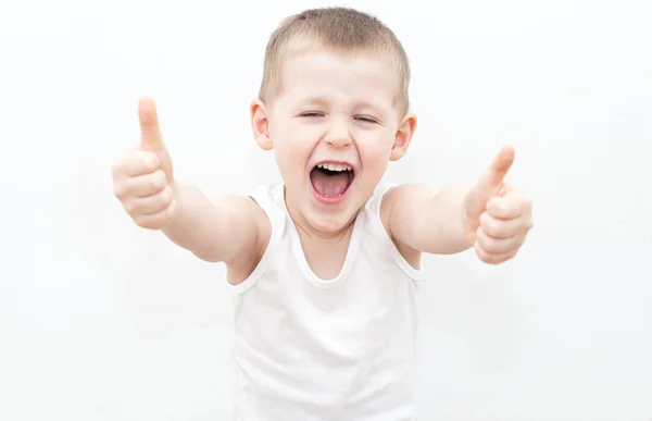
<path id="1" fill-rule="evenodd" d="M 487 201 L 494 196 L 500 196 L 505 174 L 513 162 L 514 148 L 511 146 L 503 147 L 471 189 L 466 206 L 467 218 L 480 218 L 480 214 L 487 208 Z"/>

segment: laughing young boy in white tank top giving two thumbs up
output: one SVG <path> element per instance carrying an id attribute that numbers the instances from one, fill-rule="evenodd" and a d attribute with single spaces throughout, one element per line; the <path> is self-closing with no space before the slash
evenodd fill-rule
<path id="1" fill-rule="evenodd" d="M 500 263 L 531 227 L 530 201 L 503 183 L 509 147 L 467 189 L 379 185 L 416 127 L 409 81 L 378 20 L 341 8 L 287 18 L 250 110 L 284 183 L 215 202 L 174 177 L 154 104 L 140 101 L 115 195 L 139 226 L 226 264 L 237 420 L 414 420 L 421 255 L 475 247 Z"/>

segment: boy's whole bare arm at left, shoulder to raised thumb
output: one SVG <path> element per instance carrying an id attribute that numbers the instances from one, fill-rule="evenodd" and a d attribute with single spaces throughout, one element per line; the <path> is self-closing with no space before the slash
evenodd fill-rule
<path id="1" fill-rule="evenodd" d="M 264 212 L 249 197 L 212 202 L 197 187 L 175 181 L 153 101 L 142 99 L 138 111 L 140 145 L 113 166 L 114 194 L 127 213 L 203 260 L 225 262 L 237 273 L 251 270 L 269 236 Z"/>

